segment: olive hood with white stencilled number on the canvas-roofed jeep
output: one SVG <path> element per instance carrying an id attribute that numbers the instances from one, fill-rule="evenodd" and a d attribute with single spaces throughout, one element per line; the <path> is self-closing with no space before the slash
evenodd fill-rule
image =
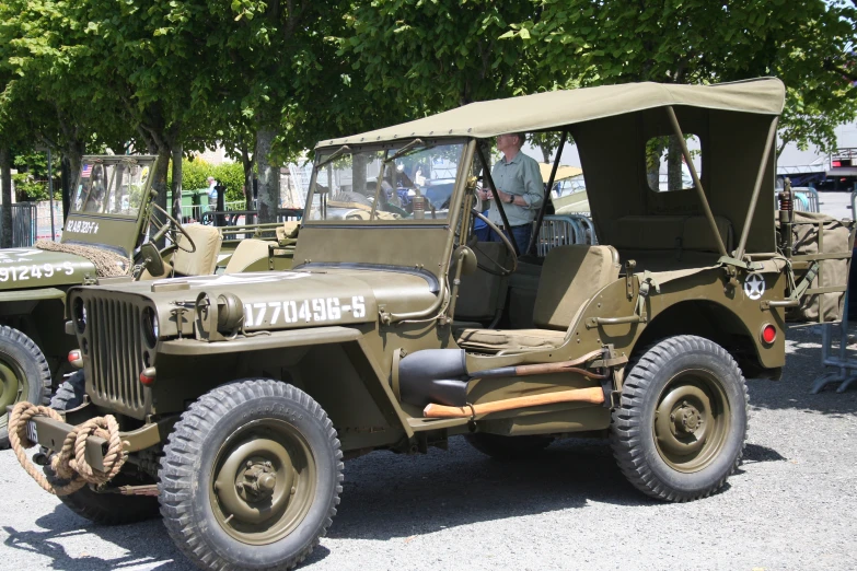
<path id="1" fill-rule="evenodd" d="M 82 292 L 92 288 L 76 288 Z M 437 300 L 433 279 L 407 270 L 323 269 L 259 271 L 173 278 L 97 288 L 97 300 L 143 298 L 157 307 L 160 338 L 178 335 L 177 307 L 184 307 L 182 335 L 194 334 L 196 300 L 213 302 L 235 295 L 244 310 L 245 329 L 280 330 L 322 325 L 375 322 L 380 305 L 387 312 L 429 307 Z"/>

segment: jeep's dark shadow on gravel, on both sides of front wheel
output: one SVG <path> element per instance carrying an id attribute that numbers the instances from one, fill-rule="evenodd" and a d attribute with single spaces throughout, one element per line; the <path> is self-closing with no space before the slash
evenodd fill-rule
<path id="1" fill-rule="evenodd" d="M 422 456 L 378 452 L 347 463 L 343 503 L 328 537 L 386 540 L 476 522 L 584 509 L 590 501 L 626 506 L 659 503 L 627 483 L 603 441 L 564 440 L 537 458 L 499 463 L 454 438 L 449 452 L 433 450 Z M 46 569 L 194 569 L 159 520 L 101 526 L 59 505 L 36 523 L 44 531 L 18 532 L 3 526 L 8 534 L 4 544 L 49 558 Z M 66 539 L 82 534 L 119 546 L 127 555 L 102 559 L 96 545 L 85 550 L 67 549 Z M 302 567 L 327 555 L 320 546 Z"/>

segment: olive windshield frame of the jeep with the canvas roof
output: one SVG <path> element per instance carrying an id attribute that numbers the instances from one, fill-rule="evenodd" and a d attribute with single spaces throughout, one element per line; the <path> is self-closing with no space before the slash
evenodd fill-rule
<path id="1" fill-rule="evenodd" d="M 466 186 L 466 177 L 462 179 L 460 176 L 462 166 L 464 164 L 464 161 L 467 156 L 467 145 L 472 141 L 471 137 L 438 137 L 438 138 L 424 138 L 424 137 L 408 137 L 403 138 L 401 140 L 396 141 L 385 141 L 385 142 L 379 142 L 379 143 L 366 143 L 366 144 L 348 144 L 349 153 L 355 154 L 359 152 L 397 152 L 399 149 L 403 149 L 404 147 L 408 144 L 413 144 L 414 141 L 421 139 L 421 145 L 425 148 L 437 148 L 441 145 L 451 145 L 451 144 L 460 144 L 461 145 L 461 154 L 458 158 L 456 168 L 455 168 L 455 180 L 456 185 L 452 190 L 452 195 L 450 197 L 450 209 L 449 213 L 444 218 L 440 219 L 432 219 L 432 218 L 425 218 L 422 220 L 413 219 L 413 218 L 406 218 L 401 220 L 385 220 L 385 219 L 374 219 L 374 220 L 319 220 L 311 218 L 311 209 L 313 205 L 313 199 L 316 195 L 316 179 L 320 173 L 320 170 L 316 165 L 323 162 L 323 160 L 327 160 L 332 153 L 335 153 L 337 150 L 341 149 L 341 144 L 331 144 L 326 147 L 320 147 L 315 149 L 315 156 L 313 159 L 313 171 L 312 171 L 312 177 L 310 178 L 310 191 L 306 195 L 306 202 L 304 206 L 303 217 L 301 219 L 301 225 L 302 226 L 310 226 L 310 225 L 319 225 L 319 226 L 329 226 L 329 228 L 371 228 L 371 226 L 384 226 L 384 228 L 406 228 L 406 226 L 449 226 L 451 225 L 453 211 L 458 211 L 456 208 L 453 208 L 453 205 L 458 205 L 458 202 L 461 200 L 461 193 L 463 191 L 464 187 Z M 415 149 L 416 150 L 416 149 Z M 324 156 L 324 159 L 322 159 Z M 392 154 L 390 155 L 392 156 Z M 386 165 L 385 168 L 389 168 L 390 165 Z M 449 178 L 449 177 L 444 177 Z M 461 184 L 458 184 L 458 182 L 462 182 Z M 424 195 L 425 196 L 425 195 Z"/>

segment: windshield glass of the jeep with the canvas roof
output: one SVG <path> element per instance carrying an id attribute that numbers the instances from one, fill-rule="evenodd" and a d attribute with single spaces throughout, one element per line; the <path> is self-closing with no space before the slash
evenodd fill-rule
<path id="1" fill-rule="evenodd" d="M 463 142 L 320 150 L 306 220 L 431 221 L 449 217 Z M 380 180 L 380 184 L 379 184 Z M 443 183 L 444 193 L 438 194 Z"/>

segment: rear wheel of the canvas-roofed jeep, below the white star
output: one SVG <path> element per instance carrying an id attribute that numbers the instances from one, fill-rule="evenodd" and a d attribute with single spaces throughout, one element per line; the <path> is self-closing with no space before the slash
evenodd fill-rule
<path id="1" fill-rule="evenodd" d="M 625 477 L 653 498 L 705 498 L 738 467 L 746 416 L 746 384 L 726 349 L 671 337 L 629 364 L 613 411 L 613 454 Z"/>

